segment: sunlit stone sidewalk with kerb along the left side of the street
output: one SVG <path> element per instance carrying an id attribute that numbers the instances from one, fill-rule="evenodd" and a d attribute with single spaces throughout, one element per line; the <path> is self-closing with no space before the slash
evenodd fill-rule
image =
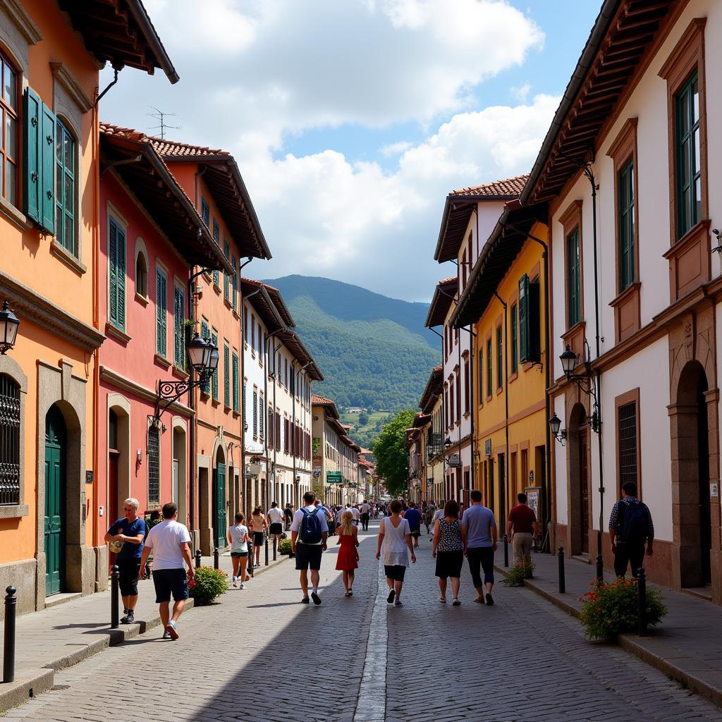
<path id="1" fill-rule="evenodd" d="M 286 558 L 279 556 L 279 562 Z M 264 555 L 261 553 L 261 563 L 263 560 Z M 212 566 L 213 557 L 203 557 L 202 563 Z M 271 555 L 269 567 L 261 566 L 260 570 L 256 570 L 256 575 L 264 573 L 273 563 Z M 230 575 L 230 556 L 220 557 L 219 567 Z M 254 583 L 255 580 L 248 583 L 249 589 Z M 110 645 L 129 640 L 160 625 L 152 581 L 140 581 L 138 589 L 138 621 L 133 625 L 121 625 L 117 630 L 110 629 L 110 591 L 17 617 L 16 683 L 0 684 L 0 712 L 19 699 L 27 699 L 29 690 L 35 695 L 51 687 L 53 675 L 48 675 L 48 669 L 64 669 L 77 664 Z M 191 606 L 192 601 L 186 609 Z M 4 627 L 0 625 L 0 648 L 3 638 Z"/>

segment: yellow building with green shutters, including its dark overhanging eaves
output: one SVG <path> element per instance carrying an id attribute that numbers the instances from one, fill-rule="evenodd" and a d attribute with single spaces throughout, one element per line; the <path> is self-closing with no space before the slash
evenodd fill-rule
<path id="1" fill-rule="evenodd" d="M 452 317 L 474 333 L 474 485 L 500 534 L 520 492 L 540 523 L 549 517 L 547 226 L 534 214 L 519 216 L 503 214 Z"/>

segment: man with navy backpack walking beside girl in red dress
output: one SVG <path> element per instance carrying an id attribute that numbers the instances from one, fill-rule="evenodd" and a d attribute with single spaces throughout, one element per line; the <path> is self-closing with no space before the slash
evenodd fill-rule
<path id="1" fill-rule="evenodd" d="M 303 507 L 293 515 L 291 524 L 291 552 L 296 557 L 296 569 L 300 572 L 301 604 L 308 604 L 308 570 L 311 570 L 311 596 L 313 604 L 321 604 L 318 582 L 321 579 L 321 554 L 326 551 L 329 523 L 321 505 L 315 506 L 316 495 L 306 492 Z"/>

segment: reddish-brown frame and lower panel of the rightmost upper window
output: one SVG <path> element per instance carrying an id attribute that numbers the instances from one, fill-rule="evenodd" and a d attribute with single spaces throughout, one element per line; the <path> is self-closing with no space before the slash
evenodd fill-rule
<path id="1" fill-rule="evenodd" d="M 707 158 L 707 101 L 705 80 L 705 24 L 706 18 L 692 19 L 677 45 L 659 71 L 667 84 L 667 134 L 669 152 L 669 295 L 674 303 L 687 293 L 700 287 L 711 277 L 711 251 L 709 243 L 709 199 Z M 700 95 L 700 204 L 701 218 L 684 235 L 679 237 L 677 203 L 677 95 L 679 90 L 697 72 L 697 90 Z"/>

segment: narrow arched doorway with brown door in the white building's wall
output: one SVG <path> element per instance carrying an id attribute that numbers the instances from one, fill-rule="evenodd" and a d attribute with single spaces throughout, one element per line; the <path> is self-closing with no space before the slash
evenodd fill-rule
<path id="1" fill-rule="evenodd" d="M 569 544 L 572 554 L 589 553 L 589 427 L 582 404 L 575 404 L 567 424 L 569 458 Z"/>

